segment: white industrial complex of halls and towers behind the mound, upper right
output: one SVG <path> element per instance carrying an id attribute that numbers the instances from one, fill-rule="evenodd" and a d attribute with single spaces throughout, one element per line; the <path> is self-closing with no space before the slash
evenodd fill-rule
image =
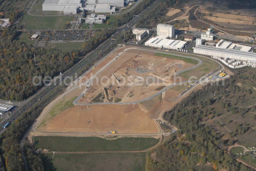
<path id="1" fill-rule="evenodd" d="M 253 52 L 253 46 L 246 46 L 236 44 L 231 41 L 217 40 L 217 43 L 211 43 L 214 40 L 214 34 L 211 32 L 213 28 L 207 29 L 206 34 L 201 34 L 201 38 L 197 38 L 195 41 L 194 53 L 211 56 L 214 59 L 220 60 L 226 66 L 236 69 L 245 66 L 256 67 L 256 53 Z M 136 34 L 136 39 L 141 40 L 140 35 L 145 33 L 143 29 L 133 29 L 133 34 Z M 174 39 L 175 28 L 172 25 L 158 24 L 157 25 L 157 36 L 152 37 L 145 42 L 146 46 L 154 48 L 173 49 L 178 51 L 187 52 L 183 50 L 188 42 L 194 40 L 193 35 L 185 35 L 184 40 L 177 40 L 177 36 Z M 170 39 L 172 38 L 172 39 Z M 204 41 L 208 45 L 203 45 Z"/>

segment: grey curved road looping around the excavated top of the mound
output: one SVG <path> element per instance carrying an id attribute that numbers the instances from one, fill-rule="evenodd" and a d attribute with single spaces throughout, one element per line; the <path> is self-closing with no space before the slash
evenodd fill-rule
<path id="1" fill-rule="evenodd" d="M 118 58 L 119 56 L 121 56 L 125 51 L 127 50 L 130 50 L 130 49 L 139 49 L 139 50 L 145 50 L 145 51 L 151 51 L 151 52 L 156 52 L 156 53 L 162 53 L 162 54 L 167 54 L 167 55 L 175 55 L 175 56 L 179 56 L 179 57 L 184 57 L 184 58 L 190 58 L 190 59 L 195 59 L 198 61 L 198 63 L 192 67 L 189 67 L 189 68 L 186 68 L 184 70 L 181 70 L 179 72 L 176 72 L 176 74 L 180 74 L 182 72 L 185 72 L 185 71 L 188 71 L 188 70 L 191 70 L 193 68 L 196 68 L 198 67 L 199 65 L 202 64 L 202 60 L 201 59 L 198 59 L 198 58 L 195 58 L 195 57 L 190 57 L 190 56 L 184 56 L 184 55 L 179 55 L 179 54 L 172 54 L 171 52 L 159 52 L 157 50 L 151 50 L 151 49 L 142 49 L 142 48 L 127 48 L 125 49 L 124 51 L 120 52 L 115 58 L 113 58 L 111 61 L 109 61 L 104 67 L 102 67 L 99 71 L 97 71 L 91 78 L 89 78 L 88 81 L 86 81 L 88 84 L 88 88 L 86 88 L 74 101 L 73 101 L 73 104 L 75 105 L 99 105 L 99 104 L 136 104 L 136 103 L 140 103 L 140 102 L 143 102 L 143 101 L 146 101 L 146 100 L 149 100 L 149 99 L 152 99 L 154 97 L 156 97 L 157 95 L 159 94 L 162 94 L 164 91 L 166 91 L 167 89 L 173 87 L 173 86 L 176 86 L 176 85 L 179 85 L 179 84 L 184 84 L 184 83 L 187 83 L 188 81 L 183 81 L 181 83 L 174 83 L 170 86 L 167 86 L 166 88 L 162 89 L 161 91 L 158 91 L 157 93 L 151 95 L 150 97 L 148 98 L 145 98 L 145 99 L 142 99 L 142 100 L 138 100 L 138 101 L 134 101 L 134 102 L 118 102 L 118 103 L 115 103 L 115 102 L 103 102 L 103 103 L 78 103 L 77 101 L 83 97 L 83 95 L 86 93 L 86 91 L 90 88 L 90 85 L 92 83 L 92 80 L 100 73 L 102 72 L 106 67 L 108 67 L 111 63 L 113 63 L 116 58 Z M 199 81 L 199 80 L 196 80 L 196 81 Z M 194 80 L 193 80 L 194 82 Z"/>

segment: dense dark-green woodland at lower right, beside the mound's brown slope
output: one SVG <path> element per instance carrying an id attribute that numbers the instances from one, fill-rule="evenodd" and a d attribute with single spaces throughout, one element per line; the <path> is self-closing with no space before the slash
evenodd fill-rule
<path id="1" fill-rule="evenodd" d="M 249 77 L 242 76 L 242 73 L 232 76 L 225 80 L 224 86 L 208 84 L 201 90 L 192 92 L 172 110 L 166 112 L 164 119 L 179 129 L 177 136 L 181 138 L 180 141 L 173 141 L 175 137 L 171 136 L 163 146 L 151 152 L 147 156 L 148 170 L 251 170 L 236 162 L 223 150 L 230 141 L 224 140 L 223 135 L 217 133 L 212 126 L 200 123 L 207 115 L 204 110 L 209 105 L 225 100 L 230 92 L 239 90 L 250 93 L 248 89 L 243 90 L 237 86 L 238 80 L 250 80 L 255 83 L 255 70 Z M 234 113 L 246 114 L 234 104 L 230 104 L 229 109 Z M 255 110 L 255 106 L 252 110 Z M 232 143 L 230 145 L 233 145 Z"/>

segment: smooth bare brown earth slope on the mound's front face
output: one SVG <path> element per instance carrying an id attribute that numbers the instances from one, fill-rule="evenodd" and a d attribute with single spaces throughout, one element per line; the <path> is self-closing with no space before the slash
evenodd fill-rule
<path id="1" fill-rule="evenodd" d="M 158 133 L 152 116 L 136 105 L 76 105 L 61 112 L 38 131 Z M 90 123 L 88 123 L 90 121 Z"/>

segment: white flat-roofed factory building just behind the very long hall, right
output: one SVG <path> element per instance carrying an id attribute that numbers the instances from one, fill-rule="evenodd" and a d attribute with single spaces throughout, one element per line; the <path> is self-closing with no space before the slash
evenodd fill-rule
<path id="1" fill-rule="evenodd" d="M 232 43 L 231 41 L 226 41 L 226 40 L 220 40 L 217 44 L 216 47 L 219 48 L 225 48 L 225 49 L 235 49 L 235 50 L 241 50 L 241 51 L 252 51 L 253 48 L 250 46 L 244 46 L 244 45 L 239 45 Z"/>

